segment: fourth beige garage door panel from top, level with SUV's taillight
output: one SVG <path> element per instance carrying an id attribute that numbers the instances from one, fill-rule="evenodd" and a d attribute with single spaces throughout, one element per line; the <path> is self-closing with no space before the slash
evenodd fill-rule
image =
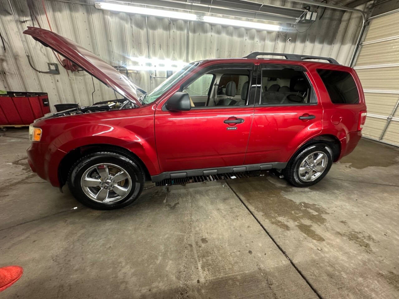
<path id="1" fill-rule="evenodd" d="M 391 114 L 396 102 L 399 99 L 399 94 L 386 93 L 364 93 L 367 112 L 371 114 L 381 114 L 388 116 Z"/>

